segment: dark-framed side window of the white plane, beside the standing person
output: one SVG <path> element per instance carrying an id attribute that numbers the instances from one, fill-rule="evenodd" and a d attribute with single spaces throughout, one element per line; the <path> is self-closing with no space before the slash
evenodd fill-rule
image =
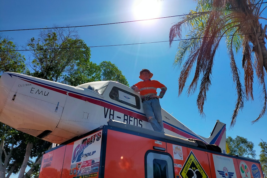
<path id="1" fill-rule="evenodd" d="M 140 109 L 140 98 L 126 90 L 113 87 L 109 93 L 109 97 L 113 100 L 126 104 L 128 106 Z"/>

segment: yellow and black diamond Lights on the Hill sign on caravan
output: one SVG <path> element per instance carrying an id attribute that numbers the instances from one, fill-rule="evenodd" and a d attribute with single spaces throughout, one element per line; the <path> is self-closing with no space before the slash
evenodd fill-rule
<path id="1" fill-rule="evenodd" d="M 182 178 L 208 178 L 207 173 L 191 151 L 180 172 Z"/>

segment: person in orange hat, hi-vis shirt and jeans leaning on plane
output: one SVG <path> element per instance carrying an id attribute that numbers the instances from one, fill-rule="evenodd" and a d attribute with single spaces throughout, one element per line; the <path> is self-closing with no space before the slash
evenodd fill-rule
<path id="1" fill-rule="evenodd" d="M 144 111 L 152 128 L 157 132 L 164 133 L 159 98 L 164 96 L 167 88 L 159 81 L 151 80 L 152 76 L 153 74 L 148 69 L 142 69 L 139 78 L 143 81 L 131 86 L 131 88 L 140 92 Z M 157 96 L 158 88 L 161 89 L 159 96 Z"/>

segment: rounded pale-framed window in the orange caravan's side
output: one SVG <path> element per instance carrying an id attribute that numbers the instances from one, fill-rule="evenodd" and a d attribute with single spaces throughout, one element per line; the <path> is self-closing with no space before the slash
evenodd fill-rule
<path id="1" fill-rule="evenodd" d="M 173 178 L 173 159 L 170 154 L 148 151 L 145 156 L 146 178 Z"/>

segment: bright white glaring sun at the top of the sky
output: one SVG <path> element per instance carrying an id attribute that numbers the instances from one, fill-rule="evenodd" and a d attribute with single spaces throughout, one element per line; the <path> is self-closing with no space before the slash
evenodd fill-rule
<path id="1" fill-rule="evenodd" d="M 160 2 L 158 0 L 136 0 L 133 11 L 137 20 L 158 18 Z"/>

